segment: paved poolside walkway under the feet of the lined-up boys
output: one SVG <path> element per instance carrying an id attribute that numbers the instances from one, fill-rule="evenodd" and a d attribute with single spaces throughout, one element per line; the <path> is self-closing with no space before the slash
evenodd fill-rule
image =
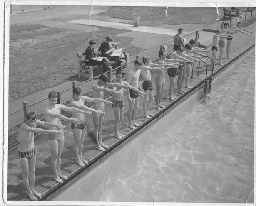
<path id="1" fill-rule="evenodd" d="M 250 29 L 252 31 L 255 31 L 255 23 L 253 25 L 249 25 L 246 27 L 247 29 Z M 209 35 L 212 36 L 212 33 L 209 33 Z M 246 50 L 248 46 L 251 46 L 252 44 L 255 44 L 255 33 L 250 34 L 248 36 L 244 34 L 237 34 L 234 37 L 234 41 L 231 46 L 231 56 L 235 57 L 239 55 L 242 51 Z M 205 53 L 207 56 L 211 56 L 210 53 Z M 224 54 L 224 57 L 226 55 Z M 210 65 L 210 62 L 207 61 Z M 224 63 L 228 63 L 229 60 L 224 59 Z M 220 68 L 220 66 L 216 66 L 217 68 Z M 197 67 L 194 69 L 193 76 L 194 78 L 191 79 L 191 86 L 195 86 L 197 83 L 202 81 L 205 77 L 205 69 L 200 69 L 199 75 L 197 74 Z M 208 73 L 209 74 L 209 73 Z M 153 80 L 153 88 L 155 89 L 154 84 L 154 78 Z M 175 85 L 176 86 L 176 85 Z M 162 95 L 162 104 L 163 105 L 169 105 L 172 102 L 168 100 L 168 87 L 169 87 L 169 79 L 166 76 L 166 84 L 164 87 L 164 92 Z M 62 88 L 63 89 L 63 88 Z M 48 89 L 48 91 L 51 89 Z M 177 88 L 175 87 L 174 93 L 176 96 L 179 96 L 177 93 Z M 69 97 L 71 95 L 69 94 Z M 32 98 L 33 96 L 31 96 Z M 27 97 L 28 99 L 28 97 Z M 125 103 L 125 113 L 127 112 L 127 97 L 124 96 L 124 103 Z M 139 104 L 139 110 L 137 113 L 136 121 L 140 125 L 147 123 L 147 119 L 143 117 L 143 109 L 142 109 L 142 99 L 140 100 Z M 178 100 L 179 101 L 179 98 Z M 153 104 L 153 107 L 151 108 L 151 113 L 157 114 L 159 113 L 158 110 L 155 109 L 155 105 Z M 61 169 L 64 174 L 66 174 L 69 179 L 74 176 L 74 174 L 77 174 L 78 172 L 81 172 L 84 168 L 78 166 L 74 162 L 74 154 L 72 150 L 69 149 L 70 145 L 73 144 L 73 137 L 72 137 L 72 131 L 70 129 L 70 124 L 64 123 L 66 126 L 65 128 L 65 147 L 62 151 L 62 165 Z M 87 118 L 87 126 L 88 130 L 92 130 L 93 123 L 92 118 Z M 113 145 L 117 144 L 121 140 L 118 140 L 113 136 L 113 128 L 114 128 L 114 115 L 113 110 L 111 106 L 106 107 L 106 116 L 104 118 L 103 128 L 102 128 L 102 138 L 104 140 L 104 143 L 109 145 L 111 148 Z M 122 121 L 122 128 L 121 133 L 126 135 L 131 135 L 134 132 L 134 130 L 131 130 L 127 126 L 127 116 L 124 115 L 124 119 Z M 45 135 L 40 135 L 39 137 L 35 138 L 35 146 L 37 151 L 37 164 L 35 169 L 35 185 L 36 190 L 43 194 L 43 196 L 51 193 L 53 189 L 57 189 L 61 186 L 61 184 L 57 184 L 52 179 L 52 172 L 50 169 L 50 150 L 47 143 L 47 139 Z M 100 152 L 99 150 L 95 149 L 95 142 L 92 139 L 91 136 L 87 135 L 85 138 L 84 143 L 84 150 L 83 150 L 83 157 L 85 159 L 88 159 L 90 161 L 90 164 L 94 162 L 97 158 L 99 158 L 101 155 L 104 155 L 104 152 Z M 22 172 L 20 168 L 20 163 L 17 156 L 17 147 L 13 148 L 12 150 L 8 151 L 8 187 L 7 187 L 7 197 L 8 200 L 28 200 L 27 195 L 24 193 L 24 187 L 22 184 Z"/>

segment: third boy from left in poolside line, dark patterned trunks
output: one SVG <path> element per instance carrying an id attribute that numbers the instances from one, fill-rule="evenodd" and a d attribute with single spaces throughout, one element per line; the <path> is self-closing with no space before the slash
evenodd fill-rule
<path id="1" fill-rule="evenodd" d="M 70 101 L 70 106 L 78 108 L 80 110 L 86 111 L 87 115 L 92 113 L 96 115 L 103 114 L 101 110 L 95 110 L 85 106 L 85 102 L 96 102 L 96 103 L 107 103 L 111 104 L 110 101 L 101 99 L 101 98 L 90 98 L 87 96 L 82 96 L 82 89 L 79 87 L 75 87 L 73 89 L 73 98 Z M 77 118 L 77 124 L 71 123 L 71 129 L 74 136 L 74 145 L 72 149 L 75 153 L 75 162 L 81 167 L 85 167 L 85 164 L 88 164 L 88 161 L 82 158 L 82 150 L 84 144 L 84 138 L 86 135 L 86 118 L 82 113 L 72 112 L 72 116 Z"/>

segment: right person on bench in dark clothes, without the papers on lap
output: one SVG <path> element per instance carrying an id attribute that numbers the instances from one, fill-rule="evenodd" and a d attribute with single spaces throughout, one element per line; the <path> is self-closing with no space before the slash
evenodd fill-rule
<path id="1" fill-rule="evenodd" d="M 111 56 L 113 51 L 115 50 L 112 48 L 113 39 L 109 36 L 106 37 L 105 41 L 102 42 L 102 44 L 99 47 L 99 50 L 101 51 L 101 56 L 107 57 L 110 61 L 116 61 L 117 66 L 121 66 L 122 60 L 120 56 Z"/>

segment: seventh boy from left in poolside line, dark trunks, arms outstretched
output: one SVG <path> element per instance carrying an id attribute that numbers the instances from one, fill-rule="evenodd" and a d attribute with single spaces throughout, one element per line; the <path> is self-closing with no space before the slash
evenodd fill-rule
<path id="1" fill-rule="evenodd" d="M 142 74 L 142 79 L 144 80 L 142 83 L 142 88 L 145 92 L 144 99 L 143 99 L 143 111 L 144 111 L 144 117 L 147 119 L 150 119 L 152 116 L 154 116 L 151 113 L 149 113 L 149 109 L 154 101 L 153 86 L 152 86 L 150 71 L 169 69 L 170 67 L 165 67 L 167 66 L 167 64 L 152 63 L 149 56 L 147 57 L 144 56 L 142 58 L 142 62 L 143 64 L 141 67 L 141 74 Z"/>

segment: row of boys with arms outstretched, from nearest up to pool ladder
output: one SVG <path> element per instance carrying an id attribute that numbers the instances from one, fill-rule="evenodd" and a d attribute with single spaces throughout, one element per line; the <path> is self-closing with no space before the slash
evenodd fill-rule
<path id="1" fill-rule="evenodd" d="M 60 169 L 61 153 L 64 147 L 63 129 L 65 128 L 61 120 L 71 122 L 74 137 L 74 145 L 72 145 L 71 148 L 75 154 L 75 162 L 81 167 L 85 167 L 85 165 L 89 163 L 88 160 L 82 157 L 83 142 L 86 135 L 86 116 L 92 115 L 94 124 L 93 133 L 97 150 L 105 151 L 109 148 L 108 145 L 102 142 L 102 123 L 105 115 L 105 103 L 113 107 L 115 117 L 114 136 L 122 140 L 124 135 L 120 133 L 120 126 L 124 115 L 124 89 L 127 90 L 127 100 L 129 104 L 127 112 L 129 128 L 135 129 L 139 126 L 139 124 L 135 122 L 135 116 L 139 106 L 139 98 L 142 95 L 144 96 L 144 117 L 150 119 L 153 116 L 149 113 L 149 109 L 154 101 L 150 71 L 157 71 L 155 83 L 157 88 L 156 104 L 158 110 L 164 108 L 160 100 L 165 83 L 165 70 L 167 70 L 170 79 L 169 99 L 171 101 L 176 100 L 176 97 L 173 95 L 173 90 L 177 75 L 179 76 L 178 93 L 184 94 L 186 92 L 182 87 L 184 79 L 186 81 L 185 87 L 191 88 L 188 78 L 191 64 L 195 61 L 200 61 L 200 57 L 193 57 L 193 55 L 189 55 L 189 53 L 191 53 L 191 45 L 186 44 L 184 50 L 178 47 L 177 50 L 171 54 L 170 59 L 167 59 L 167 47 L 164 46 L 159 51 L 159 60 L 156 63 L 152 63 L 149 56 L 143 57 L 142 61 L 135 60 L 134 68 L 129 71 L 127 81 L 123 80 L 124 73 L 122 69 L 117 70 L 115 83 L 109 83 L 107 75 L 101 74 L 97 83 L 94 83 L 92 86 L 92 97 L 82 96 L 82 89 L 79 87 L 73 89 L 73 98 L 70 101 L 69 107 L 59 103 L 59 93 L 51 91 L 48 94 L 49 104 L 44 110 L 45 121 L 37 119 L 37 115 L 34 112 L 30 112 L 27 114 L 26 122 L 22 123 L 18 130 L 18 155 L 23 173 L 22 180 L 28 197 L 33 201 L 42 198 L 42 195 L 35 191 L 34 187 L 36 164 L 34 133 L 47 135 L 51 152 L 50 165 L 53 172 L 53 179 L 58 183 L 62 183 L 63 179 L 67 179 L 67 176 L 62 174 Z M 185 74 L 187 75 L 185 76 Z M 140 76 L 143 80 L 142 88 L 139 81 Z M 104 100 L 105 92 L 112 93 L 112 102 Z M 92 108 L 85 106 L 85 102 L 93 102 Z M 62 115 L 62 111 L 71 112 L 72 118 Z M 47 129 L 42 129 L 38 126 L 46 127 Z"/>

